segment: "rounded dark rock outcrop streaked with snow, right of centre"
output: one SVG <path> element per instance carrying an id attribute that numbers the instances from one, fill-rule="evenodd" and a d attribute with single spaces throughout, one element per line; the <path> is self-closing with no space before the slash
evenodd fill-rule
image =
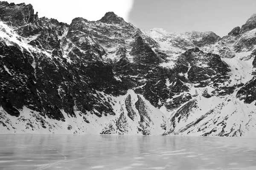
<path id="1" fill-rule="evenodd" d="M 188 66 L 190 66 L 189 70 Z M 188 79 L 191 82 L 199 83 L 198 87 L 205 87 L 211 82 L 227 81 L 229 79 L 227 72 L 230 71 L 228 67 L 220 56 L 192 48 L 180 55 L 175 69 L 183 73 L 188 71 Z"/>

